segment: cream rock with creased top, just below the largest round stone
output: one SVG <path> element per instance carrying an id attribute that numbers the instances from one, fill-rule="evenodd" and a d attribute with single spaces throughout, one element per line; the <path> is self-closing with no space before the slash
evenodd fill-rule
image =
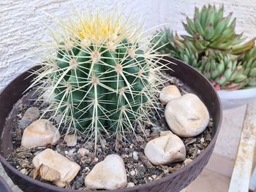
<path id="1" fill-rule="evenodd" d="M 166 134 L 149 141 L 146 144 L 144 153 L 151 164 L 165 165 L 184 161 L 186 158 L 186 147 L 175 134 Z"/>

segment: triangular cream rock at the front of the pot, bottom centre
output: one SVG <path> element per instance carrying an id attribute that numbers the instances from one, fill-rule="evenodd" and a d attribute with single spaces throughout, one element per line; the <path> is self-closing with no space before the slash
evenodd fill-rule
<path id="1" fill-rule="evenodd" d="M 127 186 L 127 172 L 124 161 L 119 155 L 108 155 L 99 162 L 85 178 L 85 184 L 91 189 L 114 190 Z"/>

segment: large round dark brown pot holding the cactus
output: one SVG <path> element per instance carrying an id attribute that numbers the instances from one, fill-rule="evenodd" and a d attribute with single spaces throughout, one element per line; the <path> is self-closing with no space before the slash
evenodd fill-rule
<path id="1" fill-rule="evenodd" d="M 191 183 L 195 178 L 202 172 L 203 167 L 206 166 L 211 153 L 214 150 L 214 145 L 217 140 L 219 133 L 219 128 L 222 122 L 222 107 L 219 101 L 217 93 L 212 88 L 211 84 L 195 69 L 191 66 L 184 64 L 174 58 L 165 57 L 163 63 L 167 64 L 167 61 L 171 61 L 174 64 L 168 64 L 168 66 L 173 69 L 173 71 L 168 71 L 168 73 L 174 77 L 178 77 L 184 84 L 186 84 L 193 93 L 202 99 L 208 111 L 210 112 L 211 118 L 214 120 L 214 128 L 212 130 L 212 140 L 208 147 L 202 151 L 202 153 L 197 156 L 197 158 L 192 161 L 191 164 L 184 166 L 184 168 L 178 170 L 173 174 L 169 174 L 162 179 L 155 180 L 151 183 L 146 183 L 143 185 L 135 186 L 132 188 L 124 188 L 120 190 L 114 190 L 115 192 L 128 192 L 128 191 L 181 191 L 189 183 Z M 176 64 L 176 65 L 175 65 Z M 36 69 L 36 68 L 34 68 Z M 72 191 L 64 188 L 57 188 L 53 185 L 48 185 L 46 183 L 39 182 L 38 180 L 33 180 L 30 177 L 21 174 L 17 169 L 12 167 L 7 163 L 5 157 L 12 150 L 12 122 L 8 120 L 6 122 L 7 116 L 12 110 L 12 106 L 23 96 L 23 91 L 29 87 L 32 76 L 29 76 L 29 72 L 25 72 L 13 80 L 7 88 L 0 94 L 0 160 L 1 164 L 4 166 L 5 171 L 11 177 L 12 181 L 18 185 L 23 191 L 29 192 L 50 192 L 50 191 Z M 112 192 L 114 192 L 112 191 Z"/>

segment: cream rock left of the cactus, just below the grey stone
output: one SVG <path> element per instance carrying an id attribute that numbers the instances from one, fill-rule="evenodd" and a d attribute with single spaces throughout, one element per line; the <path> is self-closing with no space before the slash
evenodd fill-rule
<path id="1" fill-rule="evenodd" d="M 59 142 L 59 130 L 50 123 L 50 120 L 40 119 L 31 123 L 23 131 L 22 147 L 38 147 L 47 144 L 56 145 Z"/>

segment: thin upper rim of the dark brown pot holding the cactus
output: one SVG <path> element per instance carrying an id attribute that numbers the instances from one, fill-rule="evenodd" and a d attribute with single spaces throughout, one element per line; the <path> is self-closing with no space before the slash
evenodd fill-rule
<path id="1" fill-rule="evenodd" d="M 170 64 L 175 64 L 173 63 L 173 61 L 177 61 L 178 63 L 181 63 L 181 64 L 184 64 L 188 67 L 189 70 L 192 70 L 194 71 L 195 73 L 197 73 L 198 76 L 201 76 L 203 77 L 203 79 L 206 81 L 206 83 L 208 85 L 211 85 L 211 82 L 209 82 L 206 77 L 203 76 L 203 74 L 200 74 L 200 72 L 198 72 L 196 69 L 194 69 L 192 66 L 189 66 L 188 64 L 185 64 L 183 61 L 180 61 L 176 58 L 171 58 L 171 57 L 167 57 L 165 56 L 164 57 L 165 60 L 169 60 L 170 61 Z M 35 65 L 37 66 L 37 65 Z M 34 67 L 31 67 L 30 69 L 28 69 L 26 72 L 31 72 L 31 70 L 34 69 Z M 23 72 L 24 73 L 24 72 Z M 20 75 L 22 75 L 23 73 L 19 74 L 18 77 Z M 7 88 L 12 84 L 12 82 L 14 82 L 18 77 L 15 77 L 0 93 L 0 95 L 2 93 L 4 93 L 4 91 L 7 90 Z M 142 185 L 137 185 L 137 186 L 134 186 L 134 187 L 131 187 L 131 188 L 120 188 L 120 189 L 116 189 L 116 190 L 104 190 L 102 192 L 106 192 L 106 191 L 111 191 L 111 192 L 120 192 L 120 191 L 135 191 L 135 190 L 138 190 L 141 188 L 141 186 L 154 186 L 154 185 L 159 185 L 167 180 L 170 180 L 170 178 L 173 178 L 173 177 L 176 177 L 176 175 L 178 174 L 181 174 L 183 172 L 186 172 L 188 169 L 191 169 L 192 166 L 194 166 L 198 160 L 200 160 L 201 158 L 204 157 L 204 155 L 208 152 L 208 149 L 210 149 L 212 147 L 212 145 L 215 145 L 215 142 L 217 140 L 217 137 L 218 137 L 218 134 L 219 134 L 219 130 L 220 130 L 220 127 L 222 126 L 222 104 L 221 104 L 221 101 L 219 99 L 219 94 L 217 93 L 217 91 L 214 89 L 214 87 L 211 85 L 211 88 L 214 90 L 214 94 L 215 96 L 217 97 L 217 104 L 219 105 L 219 123 L 217 125 L 217 128 L 216 128 L 216 134 L 214 134 L 214 137 L 212 138 L 211 142 L 209 143 L 209 145 L 206 147 L 205 150 L 202 151 L 202 153 L 200 153 L 200 155 L 198 155 L 196 158 L 194 158 L 194 160 L 192 161 L 192 163 L 190 164 L 187 164 L 186 166 L 184 166 L 183 168 L 179 169 L 178 171 L 174 172 L 174 173 L 171 173 L 171 174 L 167 174 L 167 176 L 165 177 L 162 177 L 161 179 L 159 180 L 154 180 L 154 181 L 151 181 L 150 183 L 145 183 L 145 184 L 142 184 Z M 42 186 L 44 188 L 48 188 L 50 190 L 55 190 L 55 191 L 64 191 L 64 192 L 70 192 L 70 191 L 79 191 L 79 190 L 72 190 L 72 189 L 67 189 L 67 188 L 59 188 L 55 185 L 50 185 L 50 184 L 47 184 L 47 183 L 42 183 L 40 182 L 39 180 L 34 180 L 32 179 L 31 177 L 27 176 L 26 174 L 22 174 L 21 172 L 18 171 L 18 169 L 15 169 L 13 166 L 11 166 L 7 161 L 6 159 L 0 154 L 0 161 L 1 161 L 1 164 L 4 164 L 4 166 L 7 166 L 8 169 L 10 169 L 12 172 L 15 172 L 15 174 L 18 174 L 19 177 L 22 177 L 24 180 L 29 180 L 31 181 L 32 183 L 35 183 L 36 185 L 39 185 L 39 186 Z M 88 192 L 92 192 L 91 190 L 82 190 L 82 191 L 88 191 Z"/>

